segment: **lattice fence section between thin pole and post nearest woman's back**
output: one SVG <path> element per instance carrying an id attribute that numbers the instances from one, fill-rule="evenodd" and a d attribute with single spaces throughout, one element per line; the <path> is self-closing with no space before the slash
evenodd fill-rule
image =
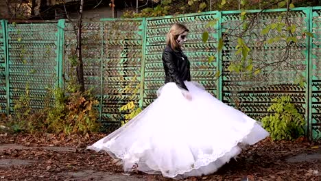
<path id="1" fill-rule="evenodd" d="M 119 125 L 121 106 L 139 106 L 144 21 L 104 21 L 102 119 Z"/>

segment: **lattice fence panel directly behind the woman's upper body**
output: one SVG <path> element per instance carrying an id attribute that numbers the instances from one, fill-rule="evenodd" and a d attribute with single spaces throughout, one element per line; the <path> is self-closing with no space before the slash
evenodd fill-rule
<path id="1" fill-rule="evenodd" d="M 147 19 L 145 81 L 143 106 L 146 107 L 156 98 L 156 90 L 164 85 L 162 54 L 165 48 L 167 32 L 174 23 L 182 23 L 189 29 L 184 53 L 191 62 L 191 79 L 200 82 L 213 95 L 217 95 L 215 73 L 217 61 L 209 62 L 209 56 L 215 56 L 218 36 L 217 27 L 206 27 L 210 21 L 218 19 L 216 13 L 179 16 L 176 18 Z M 207 43 L 202 42 L 202 33 L 209 32 Z"/>

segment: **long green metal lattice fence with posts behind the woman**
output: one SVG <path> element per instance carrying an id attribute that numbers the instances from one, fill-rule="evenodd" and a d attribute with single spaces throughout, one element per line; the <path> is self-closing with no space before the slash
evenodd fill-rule
<path id="1" fill-rule="evenodd" d="M 250 10 L 246 16 L 255 16 Z M 285 10 L 269 10 L 257 17 L 257 23 L 243 34 L 251 42 L 250 56 L 254 65 L 263 60 L 281 60 L 285 45 L 274 43 L 257 45 L 266 36 L 261 30 L 274 23 Z M 254 119 L 268 114 L 274 97 L 289 95 L 305 116 L 307 134 L 311 139 L 321 138 L 321 7 L 294 8 L 289 12 L 289 23 L 297 32 L 313 32 L 314 37 L 295 34 L 298 48 L 290 51 L 287 69 L 276 67 L 274 71 L 262 69 L 256 81 L 230 73 L 230 62 L 235 56 L 237 39 L 226 36 L 222 51 L 217 52 L 218 40 L 230 29 L 238 34 L 241 29 L 239 11 L 204 12 L 179 16 L 163 16 L 143 19 L 102 19 L 84 21 L 83 58 L 86 88 L 93 88 L 99 100 L 99 119 L 110 130 L 119 126 L 122 114 L 119 108 L 134 101 L 145 108 L 156 98 L 156 90 L 164 84 L 161 55 L 165 35 L 173 23 L 183 23 L 190 29 L 185 53 L 191 61 L 192 79 L 203 84 L 218 99 L 239 108 Z M 206 26 L 215 20 L 213 27 Z M 285 21 L 283 19 L 282 21 Z M 64 87 L 73 73 L 73 52 L 76 37 L 73 23 L 60 20 L 53 23 L 0 24 L 0 109 L 11 113 L 15 102 L 25 93 L 32 97 L 32 106 L 40 108 L 45 99 L 46 87 Z M 202 43 L 202 33 L 209 32 L 209 40 Z M 208 62 L 209 56 L 215 60 Z M 215 73 L 222 73 L 218 79 Z M 266 78 L 266 74 L 270 76 Z M 304 86 L 295 77 L 305 78 Z M 260 84 L 259 84 L 260 83 Z"/>

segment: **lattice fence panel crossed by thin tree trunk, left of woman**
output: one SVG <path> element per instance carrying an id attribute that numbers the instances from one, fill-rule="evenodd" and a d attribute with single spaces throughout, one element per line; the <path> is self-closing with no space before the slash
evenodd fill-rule
<path id="1" fill-rule="evenodd" d="M 138 106 L 144 29 L 142 20 L 90 21 L 82 27 L 85 87 L 97 95 L 100 119 L 108 129 L 123 119 L 121 106 L 128 101 Z M 67 23 L 64 76 L 75 75 L 75 38 L 73 24 Z"/>

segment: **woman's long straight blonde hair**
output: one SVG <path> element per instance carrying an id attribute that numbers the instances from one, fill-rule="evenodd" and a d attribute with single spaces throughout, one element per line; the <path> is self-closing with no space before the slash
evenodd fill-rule
<path id="1" fill-rule="evenodd" d="M 169 29 L 169 32 L 167 33 L 166 37 L 166 45 L 170 46 L 171 49 L 178 50 L 180 49 L 180 45 L 176 42 L 178 36 L 180 34 L 183 34 L 184 32 L 189 32 L 189 29 L 185 27 L 185 25 L 175 23 L 171 26 L 171 29 Z"/>

